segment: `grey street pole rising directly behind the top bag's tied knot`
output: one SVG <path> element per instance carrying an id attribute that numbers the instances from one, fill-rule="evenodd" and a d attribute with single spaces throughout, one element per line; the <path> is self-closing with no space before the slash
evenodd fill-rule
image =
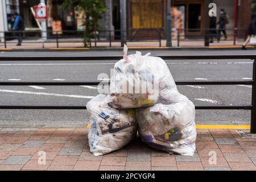
<path id="1" fill-rule="evenodd" d="M 121 15 L 121 47 L 126 43 L 126 0 L 120 1 Z"/>

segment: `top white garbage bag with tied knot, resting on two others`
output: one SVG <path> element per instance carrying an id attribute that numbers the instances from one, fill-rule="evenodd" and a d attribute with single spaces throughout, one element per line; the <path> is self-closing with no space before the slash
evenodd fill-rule
<path id="1" fill-rule="evenodd" d="M 141 52 L 115 63 L 110 80 L 111 107 L 117 109 L 148 107 L 156 103 L 172 104 L 180 93 L 167 64 L 160 57 Z"/>

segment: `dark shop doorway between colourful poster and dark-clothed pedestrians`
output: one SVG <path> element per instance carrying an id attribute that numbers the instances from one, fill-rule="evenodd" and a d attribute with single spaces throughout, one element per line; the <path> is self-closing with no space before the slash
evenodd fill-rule
<path id="1" fill-rule="evenodd" d="M 201 28 L 201 4 L 188 5 L 188 28 Z M 200 30 L 189 30 L 199 32 Z"/>

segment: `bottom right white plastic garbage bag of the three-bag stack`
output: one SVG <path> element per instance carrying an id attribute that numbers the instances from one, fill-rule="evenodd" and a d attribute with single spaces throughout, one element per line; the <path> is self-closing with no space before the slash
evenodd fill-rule
<path id="1" fill-rule="evenodd" d="M 158 150 L 192 156 L 196 150 L 195 105 L 181 95 L 170 105 L 136 109 L 143 142 Z"/>

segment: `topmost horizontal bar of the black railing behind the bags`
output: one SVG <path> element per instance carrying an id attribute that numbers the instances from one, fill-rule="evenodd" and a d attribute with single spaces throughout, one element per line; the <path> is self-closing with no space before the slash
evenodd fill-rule
<path id="1" fill-rule="evenodd" d="M 255 59 L 255 53 L 222 55 L 152 55 L 164 60 L 202 60 L 202 59 Z M 0 61 L 79 61 L 79 60 L 120 60 L 123 56 L 0 56 Z"/>

